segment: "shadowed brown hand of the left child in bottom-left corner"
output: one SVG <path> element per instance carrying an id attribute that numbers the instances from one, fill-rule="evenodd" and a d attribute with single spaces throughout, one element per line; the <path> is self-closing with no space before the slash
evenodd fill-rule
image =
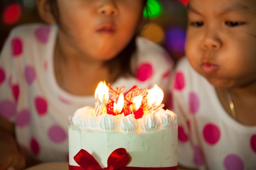
<path id="1" fill-rule="evenodd" d="M 22 170 L 25 166 L 25 158 L 16 147 L 0 146 L 0 170 Z"/>

